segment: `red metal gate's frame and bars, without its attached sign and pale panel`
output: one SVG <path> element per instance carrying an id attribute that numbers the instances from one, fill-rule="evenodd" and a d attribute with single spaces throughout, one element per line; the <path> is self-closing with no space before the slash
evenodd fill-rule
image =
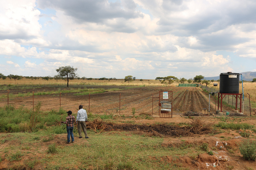
<path id="1" fill-rule="evenodd" d="M 168 92 L 168 99 L 163 99 L 163 92 Z M 161 111 L 161 101 L 169 101 L 172 105 L 172 91 L 159 91 L 159 118 L 172 118 L 172 108 L 171 111 Z M 171 117 L 170 117 L 171 112 Z"/>

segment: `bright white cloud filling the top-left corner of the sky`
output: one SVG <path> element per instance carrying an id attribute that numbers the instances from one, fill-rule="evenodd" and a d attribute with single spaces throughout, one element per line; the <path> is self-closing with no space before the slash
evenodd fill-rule
<path id="1" fill-rule="evenodd" d="M 40 37 L 40 11 L 35 0 L 0 2 L 0 39 L 31 39 Z"/>

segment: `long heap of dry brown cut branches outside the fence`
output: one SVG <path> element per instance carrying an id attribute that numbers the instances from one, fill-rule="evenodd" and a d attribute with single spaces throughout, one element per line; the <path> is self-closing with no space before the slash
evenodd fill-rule
<path id="1" fill-rule="evenodd" d="M 194 134 L 209 134 L 214 130 L 211 124 L 207 124 L 200 119 L 191 120 L 189 125 L 169 125 L 169 124 L 114 124 L 106 123 L 102 119 L 97 118 L 94 121 L 87 122 L 87 129 L 92 129 L 96 133 L 103 131 L 131 131 L 136 134 L 146 134 L 148 136 L 193 136 Z"/>

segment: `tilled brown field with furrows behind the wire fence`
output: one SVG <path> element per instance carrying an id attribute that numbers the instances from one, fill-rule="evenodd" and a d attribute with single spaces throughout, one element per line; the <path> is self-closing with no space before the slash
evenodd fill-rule
<path id="1" fill-rule="evenodd" d="M 82 86 L 74 86 L 72 88 L 81 88 Z M 60 87 L 42 87 L 37 89 L 11 89 L 12 94 L 18 93 L 32 93 L 33 91 L 45 92 L 54 91 Z M 64 88 L 64 87 L 62 87 Z M 158 97 L 159 90 L 173 91 L 173 114 L 183 113 L 184 97 L 185 97 L 185 111 L 202 111 L 203 108 L 208 108 L 208 101 L 206 94 L 201 92 L 198 87 L 127 87 L 127 86 L 83 86 L 83 88 L 103 88 L 105 93 L 90 94 L 90 112 L 93 114 L 119 114 L 119 98 L 120 102 L 120 114 L 130 115 L 132 108 L 135 108 L 135 115 L 138 114 L 152 114 L 158 115 Z M 118 88 L 118 89 L 117 89 Z M 114 89 L 114 90 L 111 90 Z M 117 89 L 117 90 L 115 90 Z M 23 90 L 23 91 L 22 91 Z M 0 94 L 6 93 L 0 92 Z M 61 107 L 65 110 L 71 110 L 76 112 L 79 105 L 84 105 L 86 110 L 89 109 L 89 95 L 77 95 L 77 93 L 62 93 L 61 101 L 59 94 L 51 95 L 38 95 L 34 96 L 34 105 L 41 102 L 43 111 L 59 109 L 60 102 Z M 212 99 L 212 101 L 214 101 Z M 0 106 L 7 105 L 6 99 L 0 100 Z M 26 107 L 33 108 L 32 96 L 16 97 L 9 100 L 9 105 L 14 107 Z M 215 106 L 210 107 L 211 111 L 215 111 Z"/>

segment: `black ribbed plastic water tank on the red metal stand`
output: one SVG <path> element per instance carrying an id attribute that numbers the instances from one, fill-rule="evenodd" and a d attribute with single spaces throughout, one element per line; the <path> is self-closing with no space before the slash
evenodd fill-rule
<path id="1" fill-rule="evenodd" d="M 228 94 L 239 93 L 239 73 L 221 73 L 220 74 L 220 92 Z"/>

